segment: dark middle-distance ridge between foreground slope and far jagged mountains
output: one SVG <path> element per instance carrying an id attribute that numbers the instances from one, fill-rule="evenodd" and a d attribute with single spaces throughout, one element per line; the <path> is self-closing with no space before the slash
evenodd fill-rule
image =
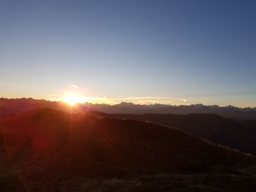
<path id="1" fill-rule="evenodd" d="M 177 127 L 199 138 L 235 148 L 256 155 L 255 120 L 237 121 L 223 118 L 215 114 L 106 114 L 91 112 L 97 116 L 140 120 L 154 124 Z"/>

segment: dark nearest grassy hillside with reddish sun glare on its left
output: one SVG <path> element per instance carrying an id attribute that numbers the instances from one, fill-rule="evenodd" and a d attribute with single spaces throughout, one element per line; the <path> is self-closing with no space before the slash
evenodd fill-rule
<path id="1" fill-rule="evenodd" d="M 2 191 L 256 188 L 255 157 L 171 127 L 42 108 L 1 125 Z"/>

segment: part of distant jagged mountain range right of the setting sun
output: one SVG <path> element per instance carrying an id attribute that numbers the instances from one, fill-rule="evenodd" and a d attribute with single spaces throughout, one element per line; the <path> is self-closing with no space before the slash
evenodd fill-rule
<path id="1" fill-rule="evenodd" d="M 204 106 L 203 104 L 193 104 L 190 106 L 171 106 L 165 104 L 140 105 L 122 102 L 116 105 L 107 104 L 83 104 L 86 108 L 101 111 L 104 113 L 125 113 L 125 114 L 191 114 L 191 113 L 214 113 L 225 118 L 236 118 L 240 120 L 256 119 L 256 108 L 237 108 L 234 106 L 220 107 Z"/>

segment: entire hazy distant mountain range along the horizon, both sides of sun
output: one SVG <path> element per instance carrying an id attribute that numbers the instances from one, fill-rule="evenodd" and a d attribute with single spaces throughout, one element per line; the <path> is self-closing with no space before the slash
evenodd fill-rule
<path id="1" fill-rule="evenodd" d="M 0 99 L 0 114 L 8 115 L 10 113 L 23 113 L 36 107 L 53 108 L 70 111 L 70 108 L 62 102 L 51 102 L 49 100 L 36 99 Z M 237 108 L 234 106 L 220 107 L 204 106 L 203 104 L 193 104 L 189 106 L 171 106 L 166 104 L 132 104 L 122 102 L 120 104 L 77 104 L 72 108 L 74 112 L 100 111 L 104 113 L 123 113 L 123 114 L 191 114 L 191 113 L 214 113 L 225 118 L 235 118 L 239 120 L 255 120 L 256 108 Z"/>

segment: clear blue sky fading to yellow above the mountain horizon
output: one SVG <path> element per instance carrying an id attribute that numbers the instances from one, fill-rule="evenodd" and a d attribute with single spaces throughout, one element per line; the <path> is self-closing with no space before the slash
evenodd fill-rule
<path id="1" fill-rule="evenodd" d="M 256 107 L 255 34 L 253 0 L 0 0 L 0 97 Z"/>

